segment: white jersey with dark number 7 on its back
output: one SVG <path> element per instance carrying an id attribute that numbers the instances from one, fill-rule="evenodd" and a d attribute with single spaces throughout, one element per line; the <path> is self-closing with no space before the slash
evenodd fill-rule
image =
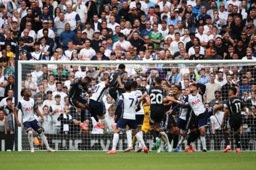
<path id="1" fill-rule="evenodd" d="M 136 111 L 134 107 L 136 106 L 137 103 L 137 97 L 130 92 L 125 92 L 120 95 L 119 101 L 122 101 L 123 104 L 121 117 L 125 119 L 135 120 Z"/>

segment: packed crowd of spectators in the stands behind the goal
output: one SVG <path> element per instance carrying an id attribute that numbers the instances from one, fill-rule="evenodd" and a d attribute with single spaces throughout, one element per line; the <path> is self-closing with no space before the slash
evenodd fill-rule
<path id="1" fill-rule="evenodd" d="M 0 133 L 14 133 L 15 60 L 255 60 L 256 3 L 251 0 L 0 0 Z M 82 62 L 81 62 L 82 63 Z M 229 87 L 237 87 L 247 112 L 241 133 L 255 139 L 255 65 L 126 65 L 123 82 L 136 80 L 145 92 L 156 77 L 172 93 L 189 80 L 206 85 L 205 106 L 222 104 Z M 90 88 L 108 78 L 116 66 L 23 65 L 22 87 L 45 116 L 46 134 L 102 134 L 87 111 L 81 130 L 80 110 L 70 105 L 70 83 L 92 78 Z M 88 98 L 88 94 L 83 94 Z M 106 120 L 114 124 L 115 104 L 104 98 Z M 177 112 L 178 114 L 178 112 Z M 176 115 L 177 117 L 178 115 Z M 223 112 L 209 120 L 209 131 L 221 131 Z M 40 120 L 38 120 L 40 121 Z"/>

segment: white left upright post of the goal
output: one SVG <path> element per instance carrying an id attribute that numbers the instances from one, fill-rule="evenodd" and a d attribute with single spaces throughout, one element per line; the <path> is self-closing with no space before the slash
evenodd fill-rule
<path id="1" fill-rule="evenodd" d="M 20 91 L 22 91 L 22 63 L 20 62 L 17 62 L 17 92 L 16 93 L 16 96 L 15 96 L 15 99 L 17 99 L 17 103 L 18 101 L 20 101 Z M 19 119 L 19 122 L 21 123 L 22 122 L 22 113 L 19 111 L 18 112 L 18 119 Z M 22 151 L 22 127 L 18 127 L 18 151 Z"/>

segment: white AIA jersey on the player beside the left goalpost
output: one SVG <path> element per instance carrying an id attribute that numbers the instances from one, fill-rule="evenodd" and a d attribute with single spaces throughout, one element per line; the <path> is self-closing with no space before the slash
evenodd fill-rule
<path id="1" fill-rule="evenodd" d="M 22 123 L 31 122 L 35 119 L 34 108 L 36 108 L 36 104 L 32 98 L 29 98 L 29 101 L 22 99 L 18 102 L 16 109 L 20 109 L 22 111 Z"/>

